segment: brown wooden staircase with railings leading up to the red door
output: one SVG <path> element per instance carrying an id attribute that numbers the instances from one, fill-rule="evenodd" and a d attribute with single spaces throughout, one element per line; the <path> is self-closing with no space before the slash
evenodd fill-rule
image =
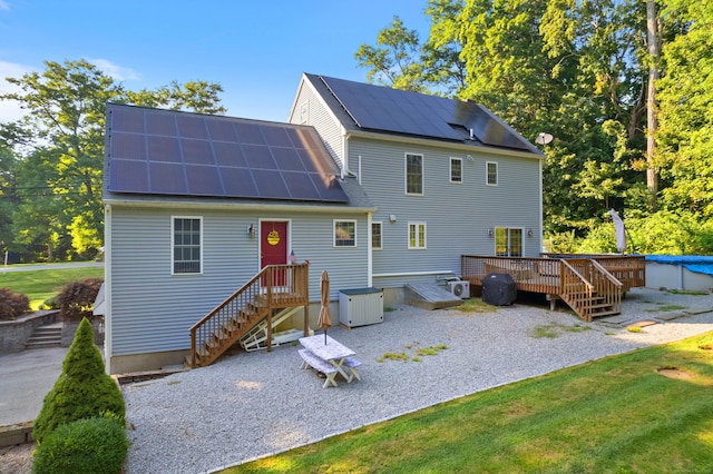
<path id="1" fill-rule="evenodd" d="M 235 343 L 266 322 L 265 348 L 273 345 L 273 318 L 304 307 L 304 335 L 309 332 L 309 264 L 271 265 L 262 269 L 225 302 L 191 328 L 187 367 L 211 365 Z"/>

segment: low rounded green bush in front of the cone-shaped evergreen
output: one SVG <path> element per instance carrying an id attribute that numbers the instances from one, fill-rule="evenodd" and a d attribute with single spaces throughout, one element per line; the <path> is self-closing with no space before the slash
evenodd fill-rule
<path id="1" fill-rule="evenodd" d="M 129 450 L 124 426 L 114 419 L 78 419 L 55 429 L 36 451 L 37 474 L 116 474 Z"/>

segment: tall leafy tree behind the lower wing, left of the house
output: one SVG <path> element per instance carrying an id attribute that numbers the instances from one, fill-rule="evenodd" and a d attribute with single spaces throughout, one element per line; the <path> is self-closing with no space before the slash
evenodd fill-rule
<path id="1" fill-rule="evenodd" d="M 22 161 L 17 181 L 25 191 L 13 213 L 13 229 L 25 245 L 43 240 L 50 260 L 67 235 L 74 239 L 74 253 L 91 257 L 104 238 L 106 103 L 222 113 L 225 108 L 218 93 L 223 89 L 198 80 L 131 92 L 86 60 L 46 61 L 45 66 L 42 73 L 8 78 L 19 91 L 0 95 L 28 111 L 17 122 L 0 125 L 0 138 Z"/>

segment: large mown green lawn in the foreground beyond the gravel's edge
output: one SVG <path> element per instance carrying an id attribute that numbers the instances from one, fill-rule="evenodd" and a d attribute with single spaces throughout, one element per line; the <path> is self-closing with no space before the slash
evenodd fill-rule
<path id="1" fill-rule="evenodd" d="M 561 369 L 224 473 L 709 472 L 713 333 Z M 661 375 L 677 367 L 694 375 Z"/>

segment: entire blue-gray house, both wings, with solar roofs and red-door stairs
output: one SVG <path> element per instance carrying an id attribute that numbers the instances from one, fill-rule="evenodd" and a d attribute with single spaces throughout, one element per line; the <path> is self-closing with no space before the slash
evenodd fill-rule
<path id="1" fill-rule="evenodd" d="M 475 102 L 322 76 L 289 124 L 109 103 L 107 371 L 307 333 L 322 270 L 333 305 L 370 287 L 391 305 L 461 255 L 538 256 L 541 160 Z"/>

